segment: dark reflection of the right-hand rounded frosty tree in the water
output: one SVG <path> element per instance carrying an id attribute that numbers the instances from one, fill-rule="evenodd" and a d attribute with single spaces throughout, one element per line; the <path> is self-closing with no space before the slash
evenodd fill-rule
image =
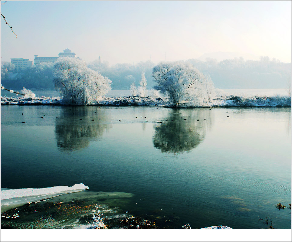
<path id="1" fill-rule="evenodd" d="M 173 110 L 164 120 L 154 127 L 153 136 L 153 145 L 161 152 L 190 152 L 203 142 L 207 127 L 211 128 L 208 111 Z"/>

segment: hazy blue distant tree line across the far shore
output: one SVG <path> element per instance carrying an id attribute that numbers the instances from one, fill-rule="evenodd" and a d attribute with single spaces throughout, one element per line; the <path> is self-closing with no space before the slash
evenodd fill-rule
<path id="1" fill-rule="evenodd" d="M 288 88 L 291 80 L 291 63 L 261 57 L 260 60 L 244 60 L 242 57 L 222 60 L 207 58 L 205 61 L 189 59 L 188 62 L 205 76 L 209 76 L 215 86 L 228 88 Z M 119 63 L 109 66 L 108 62 L 95 60 L 87 64 L 91 70 L 98 71 L 112 81 L 113 90 L 129 90 L 141 81 L 141 72 L 145 74 L 147 88 L 152 89 L 156 83 L 152 77 L 155 64 L 151 61 L 137 64 Z M 41 63 L 18 72 L 10 62 L 1 63 L 1 83 L 8 88 L 48 88 L 54 89 L 54 63 Z"/>

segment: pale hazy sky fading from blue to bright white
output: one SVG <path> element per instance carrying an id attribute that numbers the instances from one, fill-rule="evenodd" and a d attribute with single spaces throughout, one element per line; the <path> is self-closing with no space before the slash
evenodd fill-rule
<path id="1" fill-rule="evenodd" d="M 4 4 L 3 4 L 4 3 Z M 236 52 L 291 62 L 291 1 L 1 1 L 1 61 L 176 61 Z"/>

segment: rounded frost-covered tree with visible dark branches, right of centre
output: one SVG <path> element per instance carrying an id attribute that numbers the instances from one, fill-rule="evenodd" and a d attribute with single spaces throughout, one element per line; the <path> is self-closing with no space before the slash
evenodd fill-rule
<path id="1" fill-rule="evenodd" d="M 204 76 L 189 63 L 164 62 L 153 68 L 154 89 L 169 97 L 174 106 L 202 98 Z"/>

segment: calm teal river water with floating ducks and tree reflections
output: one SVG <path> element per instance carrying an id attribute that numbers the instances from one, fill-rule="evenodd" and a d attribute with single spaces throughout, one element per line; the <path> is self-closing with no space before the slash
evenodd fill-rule
<path id="1" fill-rule="evenodd" d="M 1 106 L 2 187 L 79 183 L 177 228 L 291 228 L 291 109 Z"/>

